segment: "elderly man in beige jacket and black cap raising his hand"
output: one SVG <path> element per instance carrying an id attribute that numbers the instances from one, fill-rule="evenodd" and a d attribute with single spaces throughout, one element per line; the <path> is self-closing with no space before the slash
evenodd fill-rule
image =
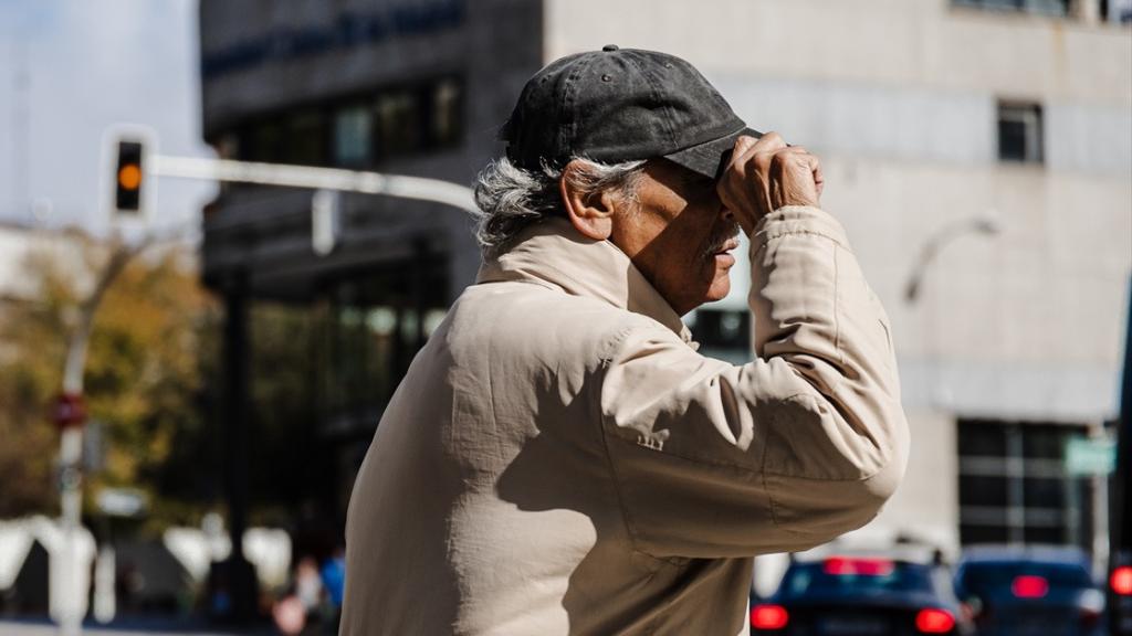
<path id="1" fill-rule="evenodd" d="M 745 633 L 752 557 L 872 519 L 908 432 L 889 320 L 818 161 L 684 60 L 607 46 L 523 89 L 475 285 L 378 426 L 341 634 Z M 755 360 L 680 316 L 751 238 Z"/>

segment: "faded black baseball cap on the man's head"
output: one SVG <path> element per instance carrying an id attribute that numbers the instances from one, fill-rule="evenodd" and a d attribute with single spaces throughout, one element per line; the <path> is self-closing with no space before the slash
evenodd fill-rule
<path id="1" fill-rule="evenodd" d="M 610 44 L 534 74 L 500 136 L 525 170 L 663 157 L 714 179 L 740 135 L 762 137 L 692 65 Z"/>

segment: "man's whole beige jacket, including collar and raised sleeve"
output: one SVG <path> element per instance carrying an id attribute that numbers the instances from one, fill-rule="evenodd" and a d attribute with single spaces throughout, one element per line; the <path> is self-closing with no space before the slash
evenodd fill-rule
<path id="1" fill-rule="evenodd" d="M 743 367 L 565 221 L 484 264 L 361 466 L 341 634 L 731 636 L 752 556 L 872 519 L 908 455 L 884 310 L 820 209 L 751 249 Z"/>

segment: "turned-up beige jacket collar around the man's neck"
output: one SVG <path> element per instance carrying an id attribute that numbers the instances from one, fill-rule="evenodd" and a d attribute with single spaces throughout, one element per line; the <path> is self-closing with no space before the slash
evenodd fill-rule
<path id="1" fill-rule="evenodd" d="M 599 299 L 648 316 L 692 343 L 687 326 L 625 252 L 609 241 L 586 239 L 565 218 L 528 227 L 507 251 L 484 259 L 475 282 L 500 281 L 528 281 Z"/>

